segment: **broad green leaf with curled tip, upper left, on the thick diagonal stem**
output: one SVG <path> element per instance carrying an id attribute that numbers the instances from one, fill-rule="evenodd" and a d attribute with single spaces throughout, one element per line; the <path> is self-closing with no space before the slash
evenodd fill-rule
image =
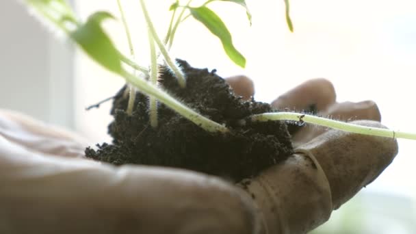
<path id="1" fill-rule="evenodd" d="M 73 38 L 101 66 L 120 74 L 122 72 L 120 53 L 101 27 L 101 23 L 107 18 L 114 16 L 108 12 L 92 14 L 86 23 L 70 33 L 70 38 Z"/>

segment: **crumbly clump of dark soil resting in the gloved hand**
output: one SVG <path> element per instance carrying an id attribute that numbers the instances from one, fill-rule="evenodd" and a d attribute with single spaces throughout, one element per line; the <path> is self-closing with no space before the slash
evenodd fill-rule
<path id="1" fill-rule="evenodd" d="M 230 133 L 209 133 L 165 105 L 159 105 L 159 126 L 149 124 L 148 98 L 138 92 L 132 116 L 125 112 L 126 87 L 114 99 L 114 121 L 108 131 L 112 144 L 86 149 L 87 157 L 112 164 L 144 164 L 186 168 L 240 181 L 278 164 L 293 153 L 284 122 L 238 120 L 271 112 L 267 103 L 235 96 L 215 70 L 192 68 L 178 60 L 187 83 L 180 88 L 169 70 L 161 69 L 161 86 L 200 114 L 226 125 Z"/>

